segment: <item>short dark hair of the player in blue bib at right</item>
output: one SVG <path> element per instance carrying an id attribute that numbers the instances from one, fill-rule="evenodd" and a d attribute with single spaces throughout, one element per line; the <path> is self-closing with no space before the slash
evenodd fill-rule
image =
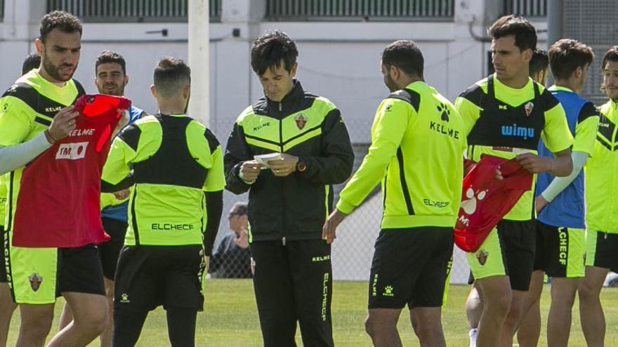
<path id="1" fill-rule="evenodd" d="M 578 67 L 594 60 L 594 52 L 574 39 L 560 39 L 549 48 L 549 66 L 555 79 L 568 79 Z"/>

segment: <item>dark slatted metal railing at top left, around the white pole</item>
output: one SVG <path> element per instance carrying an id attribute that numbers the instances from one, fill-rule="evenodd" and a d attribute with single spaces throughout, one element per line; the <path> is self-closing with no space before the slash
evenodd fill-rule
<path id="1" fill-rule="evenodd" d="M 211 22 L 221 20 L 221 1 L 209 0 Z M 84 22 L 186 22 L 188 0 L 47 0 L 47 11 L 54 10 Z"/>

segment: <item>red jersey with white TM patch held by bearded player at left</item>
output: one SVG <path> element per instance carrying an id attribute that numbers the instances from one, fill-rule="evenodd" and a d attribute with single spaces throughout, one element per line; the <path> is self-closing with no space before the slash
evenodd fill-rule
<path id="1" fill-rule="evenodd" d="M 13 245 L 81 247 L 110 239 L 100 218 L 101 171 L 112 130 L 131 101 L 84 95 L 76 128 L 26 165 L 15 209 Z"/>

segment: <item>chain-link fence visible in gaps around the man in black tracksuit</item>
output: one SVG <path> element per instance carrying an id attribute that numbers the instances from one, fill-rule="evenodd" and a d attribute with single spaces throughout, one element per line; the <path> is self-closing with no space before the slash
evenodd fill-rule
<path id="1" fill-rule="evenodd" d="M 213 122 L 211 128 L 217 138 L 222 142 L 221 146 L 225 149 L 225 141 L 230 135 L 234 119 L 218 119 Z M 355 151 L 354 172 L 360 166 L 362 158 L 369 149 L 371 142 L 371 125 L 372 119 L 368 118 L 362 121 L 348 121 L 346 126 L 350 137 L 354 139 L 362 139 L 360 142 L 353 143 Z M 334 186 L 334 201 L 338 200 L 338 193 L 343 189 L 345 184 L 337 184 Z M 235 238 L 235 235 L 228 228 L 226 217 L 232 208 L 232 205 L 237 201 L 246 201 L 247 194 L 240 196 L 234 195 L 229 191 L 225 191 L 223 196 L 223 218 L 221 227 L 216 240 L 216 247 L 220 244 L 225 245 L 230 243 L 230 238 Z M 334 278 L 336 280 L 368 280 L 369 268 L 371 266 L 372 257 L 374 254 L 374 243 L 380 231 L 380 222 L 382 218 L 382 194 L 379 186 L 376 186 L 374 191 L 367 196 L 364 203 L 346 218 L 346 220 L 337 229 L 337 239 L 332 246 L 332 264 Z M 215 247 L 215 250 L 216 250 Z M 249 259 L 235 258 L 228 259 L 228 268 L 233 273 L 238 275 L 246 269 L 249 264 Z M 454 266 L 452 269 L 452 283 L 465 283 L 468 280 L 468 265 L 463 252 L 456 250 L 454 254 Z M 214 274 L 213 276 L 216 276 Z M 220 277 L 230 277 L 218 274 Z M 232 276 L 234 277 L 234 276 Z"/>

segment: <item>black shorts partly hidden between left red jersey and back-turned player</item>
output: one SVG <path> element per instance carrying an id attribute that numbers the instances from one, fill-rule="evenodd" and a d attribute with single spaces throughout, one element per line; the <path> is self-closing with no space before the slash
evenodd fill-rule
<path id="1" fill-rule="evenodd" d="M 105 217 L 101 218 L 101 222 L 103 222 L 103 229 L 111 239 L 99 245 L 99 256 L 103 265 L 103 275 L 105 275 L 105 278 L 113 280 L 128 224 L 118 219 Z"/>

